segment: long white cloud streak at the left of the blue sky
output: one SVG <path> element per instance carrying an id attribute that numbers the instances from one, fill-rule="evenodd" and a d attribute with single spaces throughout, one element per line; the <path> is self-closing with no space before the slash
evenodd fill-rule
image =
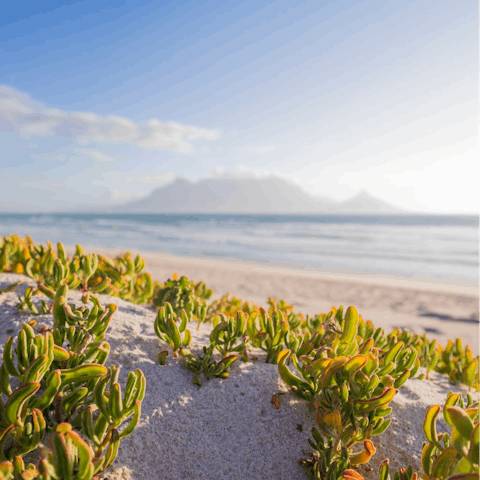
<path id="1" fill-rule="evenodd" d="M 145 124 L 117 116 L 101 117 L 90 112 L 66 112 L 35 104 L 13 88 L 0 86 L 0 131 L 20 137 L 67 137 L 80 143 L 116 142 L 147 149 L 189 153 L 188 140 L 216 138 L 217 133 L 196 127 L 151 119 Z"/>

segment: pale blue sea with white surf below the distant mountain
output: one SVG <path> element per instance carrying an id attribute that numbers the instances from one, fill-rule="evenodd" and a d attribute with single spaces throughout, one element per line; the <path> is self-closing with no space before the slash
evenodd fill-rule
<path id="1" fill-rule="evenodd" d="M 0 214 L 0 236 L 260 264 L 478 281 L 478 217 Z M 148 270 L 148 265 L 147 265 Z"/>

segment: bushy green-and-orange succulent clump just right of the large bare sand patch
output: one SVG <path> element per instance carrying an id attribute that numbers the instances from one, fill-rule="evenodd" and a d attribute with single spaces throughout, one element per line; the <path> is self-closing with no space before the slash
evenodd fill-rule
<path id="1" fill-rule="evenodd" d="M 302 461 L 312 478 L 338 479 L 348 465 L 371 458 L 372 436 L 388 428 L 390 419 L 385 417 L 392 411 L 388 405 L 415 372 L 416 350 L 404 348 L 395 336 L 382 342 L 383 349 L 373 347 L 372 337 L 361 343 L 356 309 L 349 307 L 345 315 L 340 312 L 337 322 L 326 320 L 322 340 L 310 355 L 297 358 L 288 349 L 278 355 L 283 381 L 316 410 L 318 428 L 312 431 L 314 441 L 309 440 L 314 452 Z M 301 377 L 287 367 L 289 356 Z M 363 450 L 354 453 L 351 448 L 360 442 Z"/>

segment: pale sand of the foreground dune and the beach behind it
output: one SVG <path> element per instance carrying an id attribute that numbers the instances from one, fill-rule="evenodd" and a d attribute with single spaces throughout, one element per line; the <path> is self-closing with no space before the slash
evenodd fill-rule
<path id="1" fill-rule="evenodd" d="M 99 253 L 100 249 L 90 251 Z M 304 313 L 322 313 L 332 305 L 355 305 L 364 318 L 371 318 L 387 330 L 392 326 L 414 327 L 442 341 L 462 335 L 478 351 L 478 293 L 468 285 L 457 285 L 449 292 L 431 285 L 420 289 L 392 285 L 386 280 L 375 283 L 151 255 L 147 257 L 146 270 L 160 281 L 170 277 L 173 271 L 196 281 L 202 279 L 216 290 L 216 297 L 229 290 L 244 300 L 265 305 L 268 296 L 278 296 L 295 303 Z M 17 279 L 25 280 L 18 288 L 19 293 L 26 285 L 35 284 L 20 275 L 1 274 L 0 288 Z M 128 372 L 136 368 L 143 371 L 147 381 L 140 425 L 122 440 L 118 457 L 103 478 L 307 478 L 298 460 L 306 458 L 310 451 L 307 439 L 315 426 L 314 412 L 291 394 L 280 397 L 279 410 L 273 406 L 272 394 L 287 390 L 276 365 L 264 363 L 265 357 L 259 355 L 256 362 L 234 364 L 230 378 L 204 379 L 202 387 L 198 387 L 191 382 L 193 374 L 171 354 L 168 365 L 157 363 L 157 354 L 169 348 L 154 333 L 153 310 L 114 297 L 100 295 L 100 299 L 104 304 L 119 306 L 107 331 L 112 347 L 107 366 L 122 367 L 122 387 Z M 35 297 L 35 302 L 40 300 Z M 71 292 L 69 301 L 79 304 L 80 294 Z M 16 337 L 24 322 L 35 319 L 38 329 L 51 327 L 53 323 L 51 315 L 35 317 L 18 312 L 16 303 L 15 294 L 0 296 L 0 354 L 8 336 Z M 425 312 L 435 316 L 425 316 Z M 441 315 L 449 320 L 441 319 Z M 210 328 L 202 325 L 198 333 L 195 326 L 191 328 L 192 350 L 208 343 Z M 13 332 L 7 334 L 7 329 Z M 361 470 L 367 478 L 377 478 L 378 464 L 385 457 L 390 458 L 393 469 L 410 464 L 421 472 L 422 422 L 426 410 L 433 404 L 443 405 L 449 390 L 462 391 L 450 385 L 444 376 L 434 374 L 433 378 L 432 381 L 409 380 L 400 389 L 391 404 L 392 425 L 373 439 L 377 448 L 370 463 L 373 470 Z M 297 429 L 299 424 L 303 431 Z M 438 431 L 448 429 L 439 422 Z"/>

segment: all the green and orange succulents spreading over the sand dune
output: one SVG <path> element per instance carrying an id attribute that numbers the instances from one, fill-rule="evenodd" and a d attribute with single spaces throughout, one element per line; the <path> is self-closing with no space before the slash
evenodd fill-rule
<path id="1" fill-rule="evenodd" d="M 116 306 L 102 308 L 97 293 L 156 308 L 156 335 L 179 355 L 199 386 L 201 375 L 226 379 L 239 358 L 256 360 L 249 356 L 252 349 L 265 352 L 266 362 L 278 365 L 288 389 L 315 411 L 317 426 L 309 439 L 313 452 L 300 460 L 313 479 L 363 480 L 356 466 L 375 454 L 372 437 L 389 427 L 390 402 L 420 367 L 426 368 L 425 379 L 436 371 L 453 384 L 479 389 L 479 358 L 459 339 L 443 347 L 406 330 L 387 334 L 364 321 L 354 307 L 332 307 L 328 313 L 305 317 L 277 298 L 268 299 L 268 311 L 229 294 L 208 304 L 213 291 L 204 282 L 174 274 L 160 284 L 144 269 L 145 261 L 139 255 L 133 259 L 130 252 L 111 260 L 86 255 L 77 245 L 75 255 L 67 258 L 61 243 L 55 251 L 50 242 L 44 247 L 29 237 L 0 237 L 0 272 L 23 273 L 37 282 L 36 289 L 29 287 L 19 297 L 17 308 L 35 315 L 52 313 L 54 319 L 52 329 L 37 334 L 34 325 L 24 325 L 15 350 L 13 338 L 5 345 L 0 479 L 90 479 L 112 463 L 120 439 L 138 423 L 145 378 L 140 370 L 130 372 L 122 397 L 118 369 L 105 367 L 110 350 L 105 332 Z M 81 291 L 82 306 L 67 302 L 69 289 Z M 50 302 L 42 300 L 37 307 L 32 297 L 38 294 Z M 188 327 L 194 321 L 197 329 L 212 324 L 209 345 L 196 355 L 189 350 Z M 161 365 L 167 355 L 168 350 L 159 353 Z M 13 378 L 16 388 L 10 383 Z M 279 396 L 272 397 L 277 408 Z M 464 405 L 460 395 L 449 395 L 443 414 L 452 427 L 450 435 L 436 433 L 440 406 L 430 408 L 424 424 L 425 480 L 480 480 L 479 408 L 471 396 Z M 47 435 L 50 448 L 42 443 Z M 25 467 L 22 457 L 35 449 L 42 459 Z M 379 474 L 381 480 L 390 480 L 388 460 Z M 394 480 L 417 477 L 411 468 L 394 473 Z"/>

